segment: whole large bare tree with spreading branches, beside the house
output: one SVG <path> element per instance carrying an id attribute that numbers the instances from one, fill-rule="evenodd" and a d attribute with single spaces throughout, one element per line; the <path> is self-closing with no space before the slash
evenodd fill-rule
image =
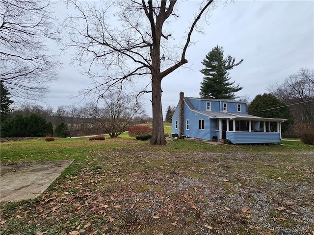
<path id="1" fill-rule="evenodd" d="M 202 1 L 197 6 L 198 14 L 194 16 L 189 30 L 185 31 L 185 40 L 182 44 L 178 43 L 174 46 L 170 46 L 172 43 L 165 42 L 173 36 L 167 27 L 163 30 L 163 25 L 167 20 L 169 23 L 174 18 L 178 18 L 174 12 L 176 0 L 107 1 L 109 4 L 106 7 L 121 8 L 116 17 L 121 19 L 122 25 L 128 25 L 121 29 L 108 23 L 109 18 L 105 14 L 106 10 L 98 9 L 97 6 L 89 4 L 84 8 L 78 4 L 79 1 L 68 1 L 74 4 L 82 16 L 81 18 L 69 17 L 67 19 L 67 27 L 72 32 L 69 34 L 71 43 L 65 48 L 78 48 L 78 54 L 73 60 L 75 63 L 78 61 L 85 63 L 86 56 L 91 56 L 90 59 L 87 59 L 90 66 L 86 67 L 89 69 L 85 73 L 95 81 L 98 77 L 106 74 L 104 83 L 96 81 L 97 85 L 92 89 L 87 89 L 84 94 L 98 93 L 99 98 L 117 86 L 119 86 L 117 87 L 119 90 L 123 89 L 125 82 L 132 81 L 133 77 L 134 79 L 141 76 L 150 77 L 151 81 L 149 82 L 152 84 L 152 90 L 145 88 L 145 91 L 140 91 L 139 94 L 152 93 L 153 134 L 151 144 L 164 145 L 166 141 L 164 139 L 161 106 L 161 80 L 187 63 L 185 53 L 191 43 L 192 32 L 202 15 L 209 16 L 209 5 L 213 0 Z M 115 2 L 117 3 L 115 4 Z M 143 14 L 146 18 L 144 17 L 142 20 Z M 81 19 L 85 24 L 79 24 Z M 108 19 L 108 21 L 103 19 Z M 139 19 L 141 20 L 138 21 Z M 83 26 L 78 29 L 78 25 Z M 177 50 L 180 51 L 178 55 Z M 164 53 L 167 59 L 170 59 L 167 64 L 163 64 L 160 68 L 160 60 L 165 58 L 164 56 L 160 57 L 160 54 L 163 55 Z M 91 71 L 94 66 L 99 68 L 99 64 L 103 65 L 104 71 Z"/>

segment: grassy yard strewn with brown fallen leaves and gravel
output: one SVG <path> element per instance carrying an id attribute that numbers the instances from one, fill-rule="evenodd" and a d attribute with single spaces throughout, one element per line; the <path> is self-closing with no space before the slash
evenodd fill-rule
<path id="1" fill-rule="evenodd" d="M 1 164 L 75 159 L 39 198 L 1 203 L 1 235 L 314 231 L 314 148 L 302 142 L 40 138 L 0 147 Z"/>

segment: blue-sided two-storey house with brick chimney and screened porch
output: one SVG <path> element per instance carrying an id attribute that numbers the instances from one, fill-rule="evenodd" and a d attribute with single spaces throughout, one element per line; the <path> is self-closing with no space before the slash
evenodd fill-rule
<path id="1" fill-rule="evenodd" d="M 249 115 L 245 102 L 184 97 L 181 92 L 172 116 L 172 133 L 180 138 L 228 139 L 234 144 L 280 143 L 285 120 Z"/>

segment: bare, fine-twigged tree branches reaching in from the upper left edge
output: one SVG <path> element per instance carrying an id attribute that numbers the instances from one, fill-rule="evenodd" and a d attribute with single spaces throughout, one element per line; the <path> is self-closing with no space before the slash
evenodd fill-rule
<path id="1" fill-rule="evenodd" d="M 20 101 L 42 100 L 59 67 L 47 53 L 47 40 L 60 40 L 52 3 L 40 0 L 0 1 L 0 79 Z"/>

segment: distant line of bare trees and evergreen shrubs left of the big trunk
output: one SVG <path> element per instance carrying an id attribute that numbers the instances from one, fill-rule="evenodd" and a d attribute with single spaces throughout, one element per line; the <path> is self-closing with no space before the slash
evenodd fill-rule
<path id="1" fill-rule="evenodd" d="M 1 90 L 1 138 L 72 137 L 109 134 L 117 137 L 136 123 L 151 121 L 140 106 L 131 105 L 126 95 L 110 94 L 100 105 L 51 107 L 25 104 L 12 110 L 10 94 Z M 6 91 L 6 92 L 5 92 Z M 3 112 L 2 112 L 3 111 Z M 140 114 L 140 115 L 139 115 Z"/>

